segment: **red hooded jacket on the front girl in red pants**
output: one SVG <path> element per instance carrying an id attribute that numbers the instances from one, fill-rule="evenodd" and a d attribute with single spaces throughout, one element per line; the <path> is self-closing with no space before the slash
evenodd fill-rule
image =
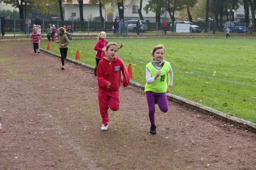
<path id="1" fill-rule="evenodd" d="M 123 86 L 127 87 L 130 83 L 130 78 L 124 62 L 118 58 L 118 56 L 115 56 L 115 59 L 112 62 L 103 57 L 97 67 L 99 88 L 104 91 L 119 90 L 121 84 L 121 71 L 123 73 Z M 106 88 L 109 82 L 111 83 L 110 88 Z"/>

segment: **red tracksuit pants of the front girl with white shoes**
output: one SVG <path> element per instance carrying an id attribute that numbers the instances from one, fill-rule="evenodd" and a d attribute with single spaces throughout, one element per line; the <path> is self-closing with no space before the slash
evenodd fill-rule
<path id="1" fill-rule="evenodd" d="M 119 109 L 119 90 L 106 92 L 105 90 L 99 88 L 98 100 L 100 107 L 100 115 L 102 117 L 102 124 L 106 126 L 109 123 L 108 109 L 110 108 L 112 111 L 118 111 Z"/>

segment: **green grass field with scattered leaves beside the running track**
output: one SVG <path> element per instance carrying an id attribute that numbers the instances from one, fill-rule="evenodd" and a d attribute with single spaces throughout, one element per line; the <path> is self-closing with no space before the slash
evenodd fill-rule
<path id="1" fill-rule="evenodd" d="M 108 34 L 107 34 L 108 36 Z M 94 36 L 95 37 L 95 36 Z M 107 38 L 125 46 L 117 55 L 128 68 L 132 81 L 145 84 L 145 65 L 154 46 L 165 46 L 165 60 L 174 78 L 171 94 L 256 123 L 256 50 L 253 38 Z M 68 58 L 95 66 L 96 39 L 70 41 Z M 46 41 L 41 48 L 47 49 Z M 59 44 L 51 42 L 59 54 Z"/>

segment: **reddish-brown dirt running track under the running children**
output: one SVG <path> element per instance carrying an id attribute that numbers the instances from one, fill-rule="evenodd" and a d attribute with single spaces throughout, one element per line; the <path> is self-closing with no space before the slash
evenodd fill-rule
<path id="1" fill-rule="evenodd" d="M 54 43 L 54 42 L 53 42 Z M 0 169 L 256 169 L 256 134 L 170 101 L 150 135 L 142 89 L 120 88 L 101 131 L 93 71 L 0 43 Z M 174 75 L 174 82 L 178 81 Z"/>

